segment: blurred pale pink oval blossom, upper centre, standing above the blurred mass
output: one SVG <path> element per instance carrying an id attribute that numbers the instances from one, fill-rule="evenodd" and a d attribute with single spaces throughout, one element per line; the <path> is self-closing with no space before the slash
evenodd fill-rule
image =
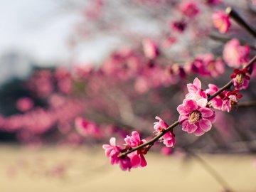
<path id="1" fill-rule="evenodd" d="M 159 48 L 155 41 L 144 39 L 144 41 L 142 41 L 142 46 L 146 57 L 154 59 L 159 55 Z"/>

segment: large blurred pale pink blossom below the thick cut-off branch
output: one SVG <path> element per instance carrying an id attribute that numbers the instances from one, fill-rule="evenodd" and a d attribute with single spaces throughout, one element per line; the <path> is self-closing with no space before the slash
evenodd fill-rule
<path id="1" fill-rule="evenodd" d="M 249 53 L 249 46 L 240 46 L 238 39 L 233 38 L 224 46 L 223 59 L 231 68 L 239 68 L 248 61 Z"/>

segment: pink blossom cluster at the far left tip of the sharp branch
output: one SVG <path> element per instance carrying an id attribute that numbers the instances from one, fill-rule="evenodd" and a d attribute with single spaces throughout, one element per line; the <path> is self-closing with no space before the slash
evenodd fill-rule
<path id="1" fill-rule="evenodd" d="M 102 148 L 105 149 L 105 155 L 110 158 L 110 164 L 119 164 L 123 171 L 130 170 L 132 168 L 132 164 L 128 156 L 118 156 L 122 152 L 122 148 L 116 144 L 116 139 L 114 137 L 110 139 L 110 144 L 103 144 Z"/>

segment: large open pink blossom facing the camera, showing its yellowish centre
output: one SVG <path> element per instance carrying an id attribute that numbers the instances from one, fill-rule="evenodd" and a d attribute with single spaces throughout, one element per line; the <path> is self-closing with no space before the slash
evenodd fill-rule
<path id="1" fill-rule="evenodd" d="M 177 111 L 180 114 L 178 122 L 182 125 L 182 130 L 196 136 L 210 131 L 215 121 L 215 112 L 208 107 L 198 105 L 194 100 L 183 100 L 182 105 L 178 105 Z"/>

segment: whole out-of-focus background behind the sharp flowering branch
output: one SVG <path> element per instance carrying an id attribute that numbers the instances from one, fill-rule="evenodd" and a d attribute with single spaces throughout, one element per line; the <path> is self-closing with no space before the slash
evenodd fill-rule
<path id="1" fill-rule="evenodd" d="M 256 41 L 235 21 L 219 33 L 212 14 L 232 6 L 255 28 L 255 1 L 0 2 L 0 191 L 256 191 L 255 72 L 242 105 L 202 137 L 177 127 L 145 169 L 123 172 L 102 150 L 133 130 L 154 137 L 156 116 L 176 121 L 195 77 L 225 85 L 228 42 L 246 63 Z"/>

